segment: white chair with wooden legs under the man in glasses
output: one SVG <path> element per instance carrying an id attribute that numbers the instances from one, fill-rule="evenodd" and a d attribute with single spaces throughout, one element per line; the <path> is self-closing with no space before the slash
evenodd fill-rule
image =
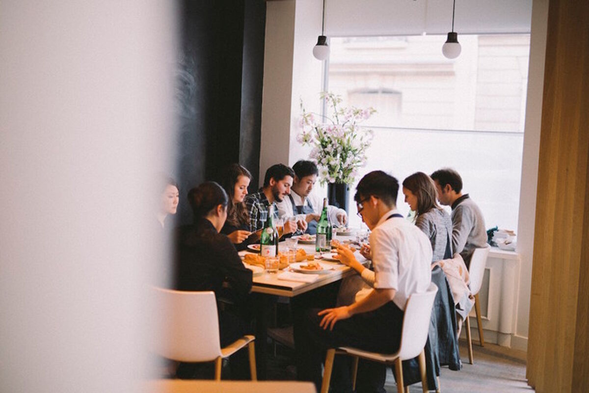
<path id="1" fill-rule="evenodd" d="M 429 320 L 432 315 L 434 299 L 438 292 L 438 286 L 434 283 L 429 284 L 427 292 L 413 293 L 407 300 L 405 307 L 405 316 L 403 317 L 403 328 L 401 331 L 401 345 L 396 354 L 386 355 L 377 354 L 376 352 L 362 351 L 356 348 L 340 347 L 337 349 L 328 349 L 325 357 L 325 372 L 323 373 L 323 383 L 321 393 L 329 391 L 329 381 L 333 368 L 333 358 L 335 354 L 353 356 L 352 384 L 356 389 L 356 373 L 358 372 L 358 359 L 368 359 L 375 362 L 385 363 L 387 365 L 395 364 L 395 374 L 397 377 L 397 391 L 403 393 L 409 391 L 403 385 L 403 368 L 401 362 L 407 359 L 413 359 L 419 355 L 419 374 L 421 374 L 421 383 L 423 392 L 428 392 L 428 382 L 425 375 L 425 352 L 423 347 L 428 339 Z"/>

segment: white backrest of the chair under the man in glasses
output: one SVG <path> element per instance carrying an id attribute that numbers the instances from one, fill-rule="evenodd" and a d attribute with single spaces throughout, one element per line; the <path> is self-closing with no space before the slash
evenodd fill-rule
<path id="1" fill-rule="evenodd" d="M 429 283 L 426 292 L 413 293 L 409 296 L 405 307 L 405 316 L 403 316 L 403 330 L 401 331 L 401 346 L 399 347 L 401 360 L 415 358 L 425 346 L 436 292 L 438 292 L 438 286 L 432 282 Z"/>

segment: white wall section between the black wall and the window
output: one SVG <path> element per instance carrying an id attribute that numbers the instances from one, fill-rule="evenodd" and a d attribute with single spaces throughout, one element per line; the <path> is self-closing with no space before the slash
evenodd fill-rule
<path id="1" fill-rule="evenodd" d="M 322 1 L 271 1 L 266 8 L 260 183 L 269 166 L 308 158 L 296 141 L 300 100 L 319 113 L 323 64 L 313 57 L 321 32 Z"/>

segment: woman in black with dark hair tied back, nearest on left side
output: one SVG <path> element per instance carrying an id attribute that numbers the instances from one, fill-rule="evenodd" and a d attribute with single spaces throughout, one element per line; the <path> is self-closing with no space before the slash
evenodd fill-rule
<path id="1" fill-rule="evenodd" d="M 217 300 L 228 299 L 236 305 L 249 299 L 252 270 L 241 263 L 235 247 L 219 230 L 227 219 L 227 193 L 214 181 L 206 181 L 188 192 L 194 224 L 178 234 L 177 289 L 212 290 Z M 238 306 L 239 307 L 239 306 Z M 226 346 L 247 332 L 240 316 L 219 311 L 221 346 Z M 182 364 L 178 377 L 193 378 L 196 367 Z M 231 376 L 249 379 L 247 352 L 231 356 Z"/>

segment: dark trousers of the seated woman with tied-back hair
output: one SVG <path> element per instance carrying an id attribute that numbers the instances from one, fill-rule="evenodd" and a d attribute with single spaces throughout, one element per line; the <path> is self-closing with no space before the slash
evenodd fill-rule
<path id="1" fill-rule="evenodd" d="M 241 338 L 249 331 L 240 316 L 231 312 L 219 311 L 219 338 L 221 348 Z M 229 357 L 231 379 L 250 379 L 247 346 Z M 176 376 L 182 379 L 213 379 L 214 364 L 181 363 Z"/>

